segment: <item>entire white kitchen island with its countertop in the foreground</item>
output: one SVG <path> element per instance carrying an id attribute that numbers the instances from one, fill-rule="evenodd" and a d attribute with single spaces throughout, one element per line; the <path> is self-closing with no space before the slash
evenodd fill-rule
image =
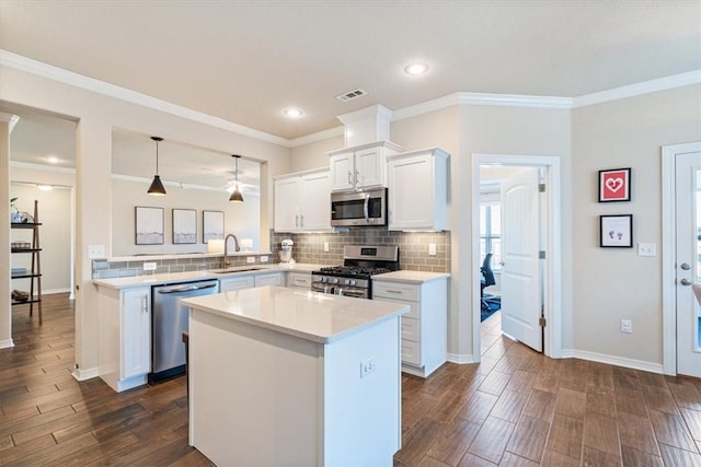
<path id="1" fill-rule="evenodd" d="M 278 287 L 183 303 L 192 446 L 221 466 L 392 466 L 409 306 Z"/>

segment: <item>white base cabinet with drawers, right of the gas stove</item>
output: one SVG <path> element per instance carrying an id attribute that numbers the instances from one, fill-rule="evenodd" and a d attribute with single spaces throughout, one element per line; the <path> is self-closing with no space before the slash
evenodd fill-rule
<path id="1" fill-rule="evenodd" d="M 374 279 L 372 300 L 410 305 L 402 316 L 402 371 L 427 377 L 448 359 L 447 277 L 423 282 Z"/>

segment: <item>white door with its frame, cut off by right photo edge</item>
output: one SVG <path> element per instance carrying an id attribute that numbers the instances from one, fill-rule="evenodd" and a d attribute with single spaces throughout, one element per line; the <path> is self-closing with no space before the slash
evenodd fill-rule
<path id="1" fill-rule="evenodd" d="M 701 377 L 701 142 L 663 148 L 663 225 L 664 372 Z"/>

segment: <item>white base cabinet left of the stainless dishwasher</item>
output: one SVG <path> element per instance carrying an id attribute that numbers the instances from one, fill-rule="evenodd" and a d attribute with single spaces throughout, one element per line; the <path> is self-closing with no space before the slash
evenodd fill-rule
<path id="1" fill-rule="evenodd" d="M 100 377 L 122 392 L 151 371 L 151 289 L 99 289 Z"/>

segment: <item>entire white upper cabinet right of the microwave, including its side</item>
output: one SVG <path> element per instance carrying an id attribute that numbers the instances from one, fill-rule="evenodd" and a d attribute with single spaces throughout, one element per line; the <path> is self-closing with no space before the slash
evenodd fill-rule
<path id="1" fill-rule="evenodd" d="M 433 148 L 388 156 L 389 230 L 447 229 L 447 160 Z"/>

